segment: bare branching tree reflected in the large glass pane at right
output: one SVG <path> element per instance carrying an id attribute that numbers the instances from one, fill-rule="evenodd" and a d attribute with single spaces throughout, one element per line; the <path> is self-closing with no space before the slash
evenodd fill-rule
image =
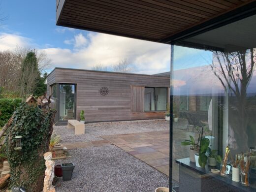
<path id="1" fill-rule="evenodd" d="M 250 104 L 247 88 L 256 63 L 256 49 L 233 53 L 214 52 L 212 71 L 222 83 L 224 89 L 235 97 L 229 98 L 229 125 L 234 130 L 239 152 L 248 150 L 247 128 Z"/>

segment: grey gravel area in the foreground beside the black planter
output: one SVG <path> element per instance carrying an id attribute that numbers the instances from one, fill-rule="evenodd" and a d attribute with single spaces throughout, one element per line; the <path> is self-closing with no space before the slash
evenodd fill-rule
<path id="1" fill-rule="evenodd" d="M 169 178 L 114 145 L 70 150 L 71 181 L 58 179 L 56 192 L 154 192 Z M 175 183 L 174 185 L 177 185 Z"/>

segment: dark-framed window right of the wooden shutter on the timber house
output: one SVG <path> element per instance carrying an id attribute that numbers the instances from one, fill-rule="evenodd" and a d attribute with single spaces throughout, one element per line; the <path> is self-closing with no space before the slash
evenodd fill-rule
<path id="1" fill-rule="evenodd" d="M 144 111 L 166 111 L 167 88 L 145 87 Z"/>

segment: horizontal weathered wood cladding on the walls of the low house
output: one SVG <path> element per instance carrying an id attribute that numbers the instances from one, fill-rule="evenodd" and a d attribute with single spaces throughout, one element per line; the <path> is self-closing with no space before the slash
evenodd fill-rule
<path id="1" fill-rule="evenodd" d="M 50 80 L 48 82 L 48 79 Z M 53 83 L 76 84 L 76 118 L 81 110 L 85 111 L 87 122 L 119 121 L 164 118 L 163 112 L 143 112 L 144 86 L 169 87 L 170 78 L 152 75 L 100 72 L 56 68 L 47 78 L 47 86 Z M 101 87 L 108 88 L 102 96 Z M 131 87 L 136 87 L 140 95 L 137 102 L 131 102 Z M 131 105 L 136 106 L 132 113 Z"/>

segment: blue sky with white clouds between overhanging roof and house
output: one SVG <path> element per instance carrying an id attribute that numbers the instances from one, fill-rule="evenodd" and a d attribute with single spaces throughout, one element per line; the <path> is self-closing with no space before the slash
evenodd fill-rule
<path id="1" fill-rule="evenodd" d="M 170 70 L 170 46 L 126 37 L 56 26 L 56 0 L 0 0 L 0 50 L 16 47 L 45 52 L 54 67 L 91 69 L 128 59 L 131 71 L 155 74 Z M 208 64 L 211 53 L 175 47 L 176 69 Z M 210 59 L 210 60 L 209 60 Z M 207 61 L 206 61 L 207 60 Z M 211 62 L 211 61 L 210 61 Z"/>

